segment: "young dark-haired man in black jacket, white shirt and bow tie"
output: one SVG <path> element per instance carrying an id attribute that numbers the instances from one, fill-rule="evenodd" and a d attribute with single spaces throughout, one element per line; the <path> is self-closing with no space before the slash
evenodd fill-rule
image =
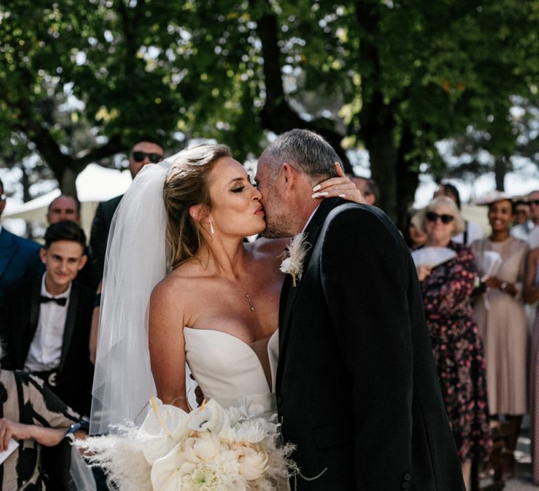
<path id="1" fill-rule="evenodd" d="M 45 242 L 40 251 L 45 274 L 8 289 L 0 309 L 2 365 L 41 377 L 62 401 L 88 415 L 93 292 L 74 282 L 86 264 L 86 236 L 77 224 L 64 221 L 48 227 Z"/>

